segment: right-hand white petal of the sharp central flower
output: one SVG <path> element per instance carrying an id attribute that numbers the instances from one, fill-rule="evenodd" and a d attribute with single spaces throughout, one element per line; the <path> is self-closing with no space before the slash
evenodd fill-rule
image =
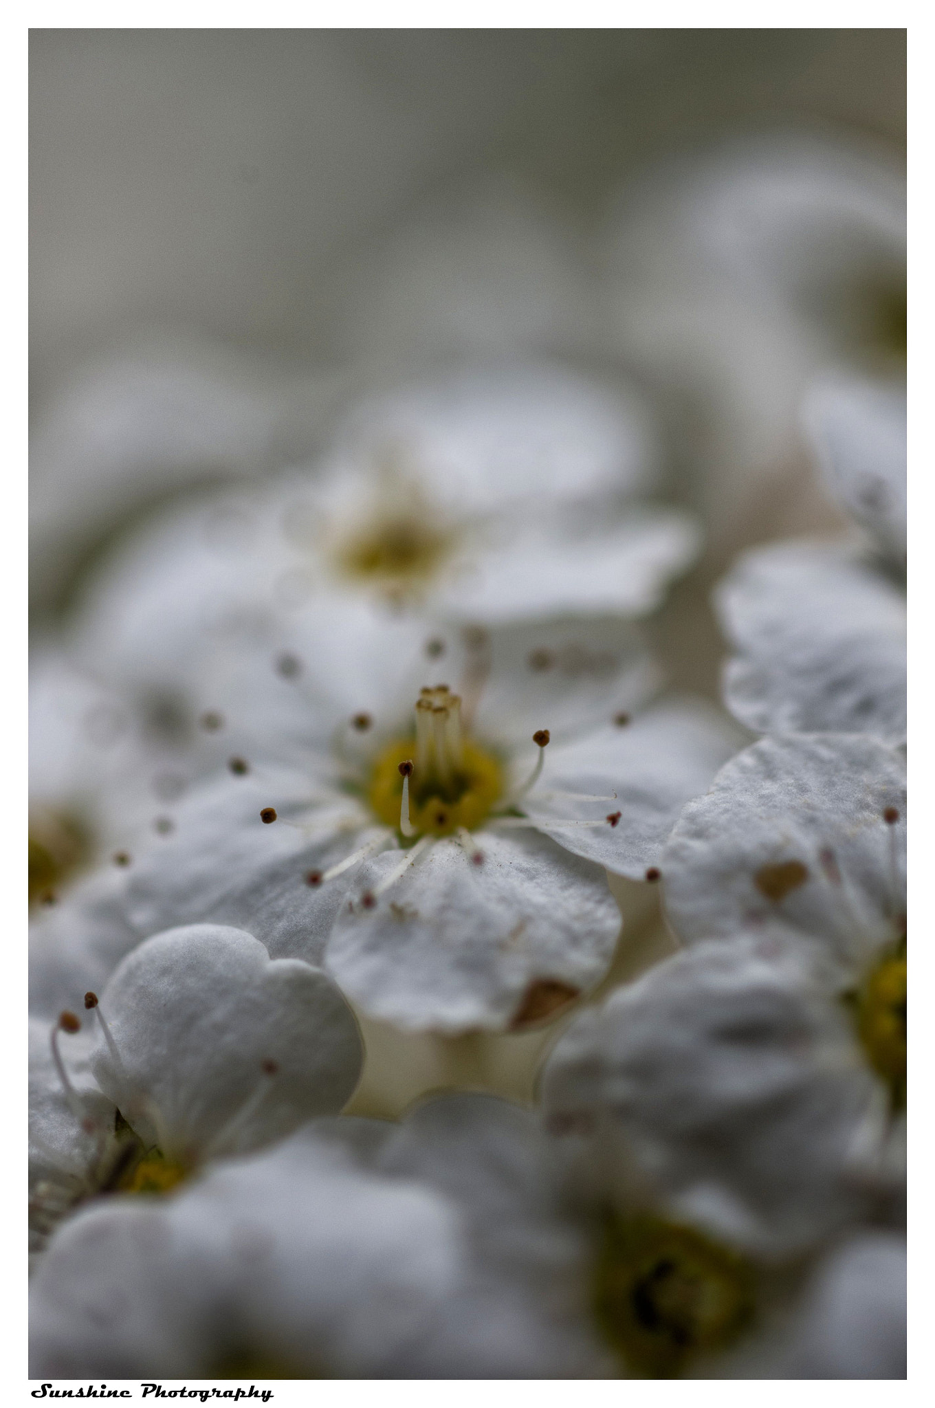
<path id="1" fill-rule="evenodd" d="M 567 850 L 642 880 L 649 866 L 659 866 L 686 801 L 705 791 L 738 743 L 736 731 L 708 705 L 659 704 L 622 727 L 607 725 L 565 748 L 549 745 L 542 777 L 520 805 Z M 617 796 L 582 801 L 549 797 L 552 790 Z M 617 812 L 614 826 L 549 828 L 553 818 L 601 819 Z"/>

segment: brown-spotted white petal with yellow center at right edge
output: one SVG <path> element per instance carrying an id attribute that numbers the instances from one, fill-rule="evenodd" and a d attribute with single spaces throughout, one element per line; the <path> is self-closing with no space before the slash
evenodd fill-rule
<path id="1" fill-rule="evenodd" d="M 731 942 L 752 931 L 808 956 L 815 988 L 835 1011 L 848 1012 L 856 1059 L 877 1077 L 883 1118 L 876 1153 L 898 1164 L 904 758 L 858 734 L 763 739 L 689 803 L 662 872 L 666 912 L 686 943 Z M 897 1143 L 887 1148 L 891 1132 Z"/>

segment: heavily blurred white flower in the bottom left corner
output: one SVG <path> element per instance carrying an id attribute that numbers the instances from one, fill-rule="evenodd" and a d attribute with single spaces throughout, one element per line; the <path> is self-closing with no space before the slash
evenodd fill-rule
<path id="1" fill-rule="evenodd" d="M 313 1131 L 79 1212 L 32 1283 L 32 1371 L 396 1377 L 458 1281 L 459 1219 Z"/>

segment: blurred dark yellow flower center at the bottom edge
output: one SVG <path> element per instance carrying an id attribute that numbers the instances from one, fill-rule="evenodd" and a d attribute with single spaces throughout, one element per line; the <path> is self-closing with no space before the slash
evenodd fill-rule
<path id="1" fill-rule="evenodd" d="M 597 1322 L 631 1373 L 677 1377 L 725 1347 L 753 1309 L 748 1262 L 691 1228 L 610 1218 L 594 1267 Z"/>

